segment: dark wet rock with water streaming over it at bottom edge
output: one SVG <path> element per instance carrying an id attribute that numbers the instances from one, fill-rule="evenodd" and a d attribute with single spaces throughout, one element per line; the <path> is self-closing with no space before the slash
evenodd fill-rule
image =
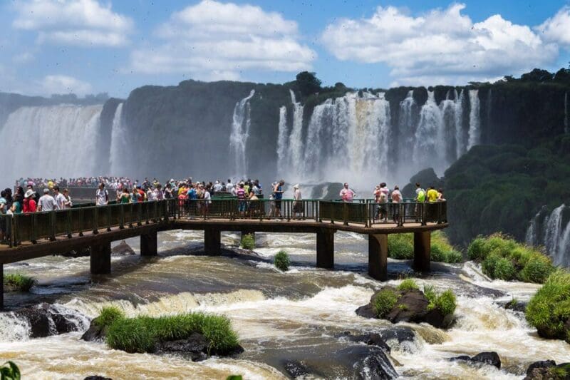
<path id="1" fill-rule="evenodd" d="M 338 355 L 353 359 L 353 379 L 395 379 L 395 371 L 383 349 L 375 346 L 351 346 Z"/>

